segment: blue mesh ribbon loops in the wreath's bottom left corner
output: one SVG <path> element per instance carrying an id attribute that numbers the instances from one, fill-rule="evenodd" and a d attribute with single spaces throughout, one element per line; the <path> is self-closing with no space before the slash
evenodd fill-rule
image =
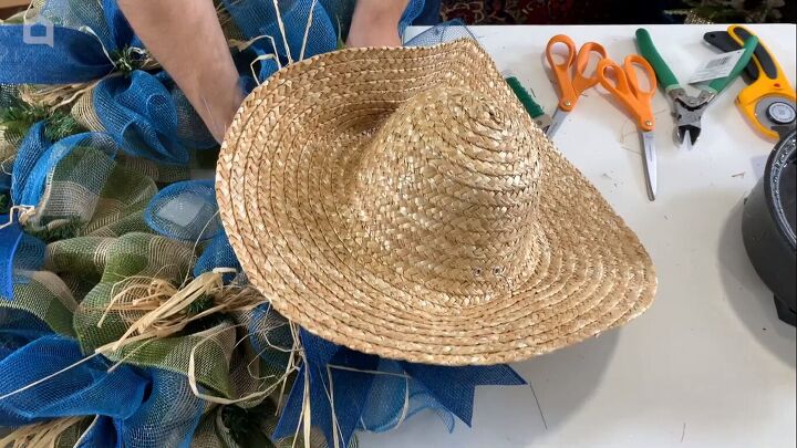
<path id="1" fill-rule="evenodd" d="M 29 342 L 25 334 L 0 331 L 0 397 L 35 384 L 0 399 L 0 427 L 96 415 L 82 447 L 190 446 L 205 402 L 184 375 L 124 364 L 108 372 L 102 356 L 77 364 L 77 341 L 50 334 Z"/>

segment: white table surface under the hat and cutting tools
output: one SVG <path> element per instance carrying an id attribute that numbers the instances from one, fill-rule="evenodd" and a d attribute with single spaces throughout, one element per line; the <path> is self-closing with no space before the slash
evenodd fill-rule
<path id="1" fill-rule="evenodd" d="M 542 63 L 557 33 L 594 40 L 622 60 L 636 27 L 475 27 L 495 58 L 534 88 L 549 113 L 556 91 Z M 686 80 L 716 51 L 703 33 L 722 25 L 648 27 Z M 795 82 L 795 27 L 751 27 Z M 692 153 L 672 140 L 670 103 L 656 113 L 659 198 L 644 190 L 640 144 L 623 112 L 589 91 L 555 142 L 636 231 L 653 258 L 659 292 L 628 325 L 514 365 L 534 387 L 482 387 L 473 428 L 454 434 L 431 414 L 363 447 L 794 447 L 795 329 L 777 320 L 741 236 L 742 201 L 774 144 L 734 105 L 734 84 L 703 117 Z M 535 393 L 539 402 L 535 399 Z"/>

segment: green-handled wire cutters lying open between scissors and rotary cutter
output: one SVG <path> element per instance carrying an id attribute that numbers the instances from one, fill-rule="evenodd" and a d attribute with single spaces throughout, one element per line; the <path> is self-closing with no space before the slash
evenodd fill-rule
<path id="1" fill-rule="evenodd" d="M 673 101 L 673 115 L 676 119 L 675 139 L 679 144 L 685 144 L 691 149 L 701 134 L 701 118 L 708 104 L 727 87 L 733 80 L 747 66 L 753 52 L 758 45 L 758 38 L 751 37 L 744 45 L 744 53 L 736 62 L 731 73 L 725 77 L 712 81 L 707 85 L 697 86 L 700 93 L 696 96 L 687 95 L 684 86 L 679 82 L 677 77 L 667 66 L 664 59 L 656 51 L 653 40 L 648 30 L 640 28 L 636 30 L 636 44 L 640 54 L 650 62 L 659 79 L 659 85 Z M 689 136 L 689 137 L 687 137 Z"/>

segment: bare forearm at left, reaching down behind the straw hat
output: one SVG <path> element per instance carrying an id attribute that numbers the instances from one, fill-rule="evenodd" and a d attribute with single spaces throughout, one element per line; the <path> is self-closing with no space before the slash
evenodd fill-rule
<path id="1" fill-rule="evenodd" d="M 242 93 L 213 0 L 118 0 L 118 6 L 221 140 Z"/>

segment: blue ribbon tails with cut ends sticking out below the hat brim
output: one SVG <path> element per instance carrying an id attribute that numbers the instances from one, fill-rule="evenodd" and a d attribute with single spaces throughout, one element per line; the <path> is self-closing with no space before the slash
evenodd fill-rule
<path id="1" fill-rule="evenodd" d="M 451 413 L 470 426 L 476 386 L 526 384 L 508 365 L 446 367 L 381 360 L 338 346 L 304 330 L 299 337 L 306 360 L 275 430 L 277 439 L 297 433 L 307 381 L 312 425 L 324 434 L 330 446 L 334 437 L 340 437 L 344 447 L 356 429 L 392 429 L 423 408 Z M 414 406 L 411 402 L 411 413 L 403 416 L 407 396 L 415 402 Z"/>

